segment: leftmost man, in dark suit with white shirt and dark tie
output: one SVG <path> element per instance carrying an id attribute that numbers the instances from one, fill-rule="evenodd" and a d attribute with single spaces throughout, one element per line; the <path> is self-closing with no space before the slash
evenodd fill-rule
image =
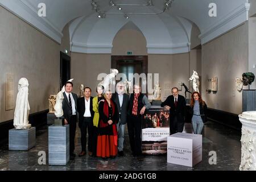
<path id="1" fill-rule="evenodd" d="M 76 156 L 75 150 L 75 135 L 77 122 L 77 94 L 72 93 L 73 83 L 68 81 L 65 84 L 65 92 L 63 92 L 64 100 L 62 109 L 64 114 L 64 124 L 69 125 L 69 155 L 73 160 Z"/>

